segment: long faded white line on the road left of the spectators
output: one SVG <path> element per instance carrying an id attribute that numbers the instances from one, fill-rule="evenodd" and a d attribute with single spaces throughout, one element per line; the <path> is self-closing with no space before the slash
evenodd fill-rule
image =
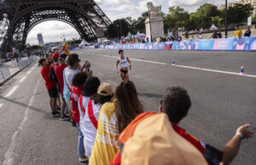
<path id="1" fill-rule="evenodd" d="M 15 134 L 13 134 L 12 139 L 11 139 L 11 144 L 9 145 L 9 149 L 4 154 L 3 165 L 12 165 L 13 164 L 14 158 L 12 157 L 12 155 L 13 155 L 13 152 L 15 150 L 15 139 L 17 138 L 18 134 L 20 134 L 20 131 L 22 131 L 23 126 L 24 126 L 24 124 L 25 124 L 25 122 L 27 120 L 28 112 L 30 110 L 30 107 L 32 106 L 33 101 L 34 101 L 34 98 L 35 98 L 34 94 L 36 94 L 36 92 L 38 90 L 38 87 L 39 87 L 39 84 L 40 84 L 40 80 L 38 80 L 36 88 L 34 88 L 34 90 L 32 92 L 32 98 L 29 100 L 29 103 L 26 106 L 26 110 L 25 110 L 25 115 L 23 117 L 23 121 L 20 122 L 20 125 L 17 128 L 17 130 L 15 131 Z"/>

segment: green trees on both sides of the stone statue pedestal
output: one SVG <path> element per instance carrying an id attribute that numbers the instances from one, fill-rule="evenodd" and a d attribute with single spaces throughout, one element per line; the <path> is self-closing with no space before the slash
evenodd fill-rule
<path id="1" fill-rule="evenodd" d="M 247 17 L 252 14 L 253 7 L 251 4 L 236 3 L 234 7 L 228 9 L 229 25 L 236 26 L 241 22 L 247 21 Z M 211 3 L 202 4 L 195 13 L 190 13 L 185 9 L 172 6 L 167 14 L 160 13 L 164 19 L 165 32 L 168 29 L 177 29 L 183 27 L 185 30 L 208 29 L 214 24 L 218 27 L 224 27 L 225 12 Z M 114 20 L 113 24 L 108 27 L 108 37 L 116 38 L 126 36 L 129 31 L 136 34 L 137 31 L 145 33 L 145 20 L 148 18 L 148 12 L 144 12 L 137 20 L 126 17 L 120 20 Z M 256 17 L 253 17 L 253 21 Z M 120 29 L 121 27 L 121 29 Z"/>

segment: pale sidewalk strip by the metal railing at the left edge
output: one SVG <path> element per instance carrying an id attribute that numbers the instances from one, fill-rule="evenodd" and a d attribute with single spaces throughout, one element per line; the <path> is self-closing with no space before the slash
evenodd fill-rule
<path id="1" fill-rule="evenodd" d="M 29 59 L 27 57 L 21 58 L 18 63 L 16 60 L 2 63 L 0 65 L 0 86 L 8 82 L 9 79 L 22 71 L 27 65 L 30 65 L 34 60 L 36 60 L 36 57 L 32 56 Z"/>

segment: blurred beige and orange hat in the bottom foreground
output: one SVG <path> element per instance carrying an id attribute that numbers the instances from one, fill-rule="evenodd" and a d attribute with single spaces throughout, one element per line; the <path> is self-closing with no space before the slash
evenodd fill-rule
<path id="1" fill-rule="evenodd" d="M 121 164 L 207 165 L 200 151 L 175 133 L 166 114 L 151 114 L 139 115 L 120 134 Z"/>

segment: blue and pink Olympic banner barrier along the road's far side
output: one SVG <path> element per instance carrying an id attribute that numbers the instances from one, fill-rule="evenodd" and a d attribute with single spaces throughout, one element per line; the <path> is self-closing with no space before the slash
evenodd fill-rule
<path id="1" fill-rule="evenodd" d="M 256 37 L 201 39 L 181 42 L 163 43 L 128 43 L 106 45 L 107 49 L 143 49 L 143 50 L 225 50 L 256 51 Z"/>

